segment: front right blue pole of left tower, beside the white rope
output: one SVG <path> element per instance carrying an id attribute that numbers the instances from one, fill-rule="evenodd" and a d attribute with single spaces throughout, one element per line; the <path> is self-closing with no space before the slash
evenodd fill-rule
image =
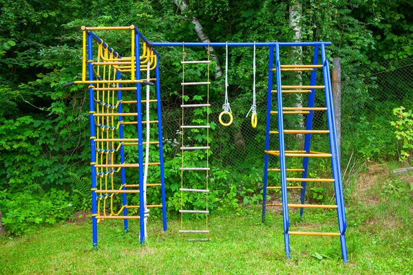
<path id="1" fill-rule="evenodd" d="M 135 79 L 140 80 L 139 35 L 135 33 Z M 145 206 L 143 197 L 143 144 L 142 144 L 142 103 L 140 83 L 136 83 L 136 110 L 138 112 L 138 164 L 139 164 L 139 214 L 140 214 L 140 244 L 145 243 Z M 147 144 L 149 146 L 149 144 Z"/>

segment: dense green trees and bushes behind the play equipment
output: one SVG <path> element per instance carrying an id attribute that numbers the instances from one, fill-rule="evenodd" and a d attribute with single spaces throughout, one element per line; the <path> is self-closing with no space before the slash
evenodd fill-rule
<path id="1" fill-rule="evenodd" d="M 206 0 L 186 4 L 182 8 L 180 1 L 163 0 L 0 0 L 0 210 L 8 234 L 71 219 L 74 212 L 92 206 L 87 87 L 63 87 L 81 78 L 82 25 L 134 24 L 149 41 L 200 41 L 196 21 L 211 41 L 331 41 L 328 58 L 341 58 L 343 170 L 357 170 L 372 161 L 411 163 L 412 1 Z M 118 52 L 129 46 L 129 41 L 115 34 L 109 41 Z M 176 184 L 180 156 L 175 141 L 179 140 L 182 48 L 158 51 L 167 203 L 173 214 L 180 208 Z M 224 51 L 215 49 L 221 65 Z M 187 52 L 193 59 L 206 56 L 202 48 Z M 211 133 L 211 208 L 242 211 L 243 205 L 260 203 L 262 192 L 268 49 L 257 50 L 257 129 L 251 129 L 245 118 L 252 102 L 252 50 L 231 49 L 229 58 L 229 96 L 238 115 L 229 129 L 217 126 Z M 297 57 L 282 52 L 282 58 Z M 304 49 L 299 58 L 308 63 L 312 54 Z M 197 81 L 204 73 L 194 69 L 189 78 Z M 219 70 L 213 73 L 210 101 L 216 118 L 224 101 L 224 79 Z M 192 119 L 202 119 L 202 113 Z M 318 120 L 321 123 L 324 118 Z M 202 156 L 195 154 L 191 159 L 198 157 Z M 329 164 L 322 165 L 327 168 L 314 171 L 315 175 L 326 173 Z M 323 200 L 330 191 L 316 186 L 309 195 Z M 149 202 L 158 199 L 156 192 L 149 192 Z M 159 214 L 153 210 L 151 217 Z"/>

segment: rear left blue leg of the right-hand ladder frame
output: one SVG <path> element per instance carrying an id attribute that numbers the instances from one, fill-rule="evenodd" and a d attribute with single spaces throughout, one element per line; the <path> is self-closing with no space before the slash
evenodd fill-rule
<path id="1" fill-rule="evenodd" d="M 267 118 L 265 129 L 265 150 L 270 150 L 270 122 L 271 122 L 271 91 L 273 90 L 273 63 L 274 63 L 274 46 L 270 46 L 270 57 L 268 63 L 268 92 L 267 92 Z M 264 180 L 262 182 L 262 222 L 265 221 L 266 212 L 266 193 L 268 185 L 268 158 L 269 155 L 264 156 Z"/>

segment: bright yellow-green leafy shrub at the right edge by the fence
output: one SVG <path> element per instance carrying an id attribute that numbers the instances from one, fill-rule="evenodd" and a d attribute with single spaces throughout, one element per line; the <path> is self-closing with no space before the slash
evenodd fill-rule
<path id="1" fill-rule="evenodd" d="M 413 153 L 413 113 L 412 110 L 405 111 L 405 107 L 393 109 L 393 114 L 397 120 L 390 122 L 396 131 L 397 140 L 401 142 L 399 159 L 401 162 L 412 163 Z"/>

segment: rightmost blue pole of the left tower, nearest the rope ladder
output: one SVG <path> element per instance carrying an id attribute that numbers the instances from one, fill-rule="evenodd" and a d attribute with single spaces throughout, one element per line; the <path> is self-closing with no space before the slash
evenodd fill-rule
<path id="1" fill-rule="evenodd" d="M 156 63 L 156 107 L 158 111 L 158 140 L 159 140 L 159 162 L 160 162 L 160 192 L 162 196 L 162 223 L 164 231 L 167 231 L 167 201 L 165 198 L 165 175 L 164 175 L 164 159 L 162 146 L 162 111 L 160 102 L 160 74 L 159 74 L 159 55 Z M 148 145 L 147 145 L 148 146 Z"/>

